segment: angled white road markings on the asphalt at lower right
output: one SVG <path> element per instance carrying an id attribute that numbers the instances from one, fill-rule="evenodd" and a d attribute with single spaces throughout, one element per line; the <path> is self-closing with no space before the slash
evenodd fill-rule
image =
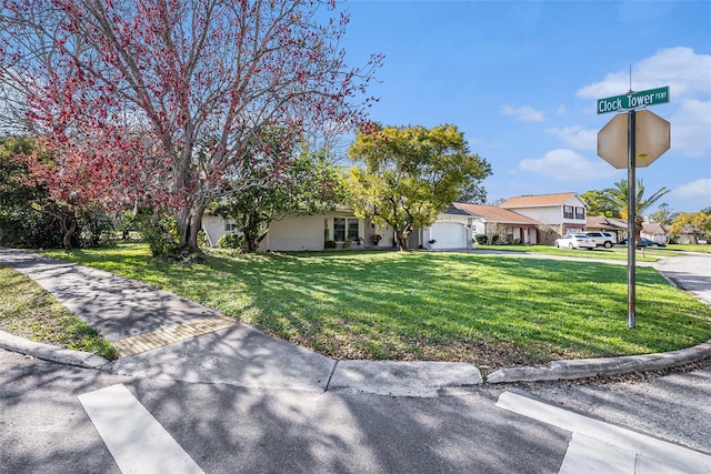
<path id="1" fill-rule="evenodd" d="M 511 392 L 502 393 L 497 406 L 573 432 L 560 473 L 711 474 L 711 456 L 688 447 L 610 425 Z M 603 445 L 608 445 L 605 450 L 612 446 L 614 450 L 602 451 Z M 601 455 L 600 452 L 604 454 Z M 610 465 L 605 464 L 602 468 L 600 464 L 598 466 L 601 468 L 595 468 L 594 463 L 603 461 L 609 461 Z"/>

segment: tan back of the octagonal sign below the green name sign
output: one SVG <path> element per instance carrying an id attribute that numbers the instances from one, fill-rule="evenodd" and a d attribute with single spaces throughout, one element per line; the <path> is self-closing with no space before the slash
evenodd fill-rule
<path id="1" fill-rule="evenodd" d="M 635 168 L 649 167 L 671 145 L 671 124 L 649 110 L 639 110 L 634 127 Z M 628 117 L 615 115 L 598 132 L 598 155 L 619 170 L 628 167 Z"/>

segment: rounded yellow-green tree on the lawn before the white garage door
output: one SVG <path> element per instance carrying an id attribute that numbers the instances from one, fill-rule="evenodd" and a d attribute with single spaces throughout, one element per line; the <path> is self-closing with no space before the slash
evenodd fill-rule
<path id="1" fill-rule="evenodd" d="M 400 249 L 413 229 L 431 225 L 491 174 L 491 165 L 469 151 L 451 124 L 359 130 L 348 153 L 363 164 L 350 171 L 350 206 L 359 218 L 392 226 Z"/>

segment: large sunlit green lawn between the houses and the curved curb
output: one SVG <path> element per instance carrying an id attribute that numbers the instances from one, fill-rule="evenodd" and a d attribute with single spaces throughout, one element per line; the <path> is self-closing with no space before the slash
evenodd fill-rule
<path id="1" fill-rule="evenodd" d="M 624 265 L 513 255 L 210 251 L 157 262 L 144 245 L 51 256 L 198 301 L 337 359 L 463 361 L 493 367 L 671 351 L 711 336 L 711 307 L 637 272 L 627 327 Z M 567 251 L 570 255 L 570 251 Z"/>

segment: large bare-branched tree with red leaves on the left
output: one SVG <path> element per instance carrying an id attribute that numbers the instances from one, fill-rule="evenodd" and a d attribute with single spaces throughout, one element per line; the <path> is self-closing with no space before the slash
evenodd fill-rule
<path id="1" fill-rule="evenodd" d="M 0 93 L 54 157 L 30 157 L 37 180 L 72 205 L 169 209 L 190 251 L 207 205 L 263 185 L 254 169 L 279 179 L 294 137 L 361 123 L 381 61 L 346 64 L 332 1 L 0 4 Z"/>

